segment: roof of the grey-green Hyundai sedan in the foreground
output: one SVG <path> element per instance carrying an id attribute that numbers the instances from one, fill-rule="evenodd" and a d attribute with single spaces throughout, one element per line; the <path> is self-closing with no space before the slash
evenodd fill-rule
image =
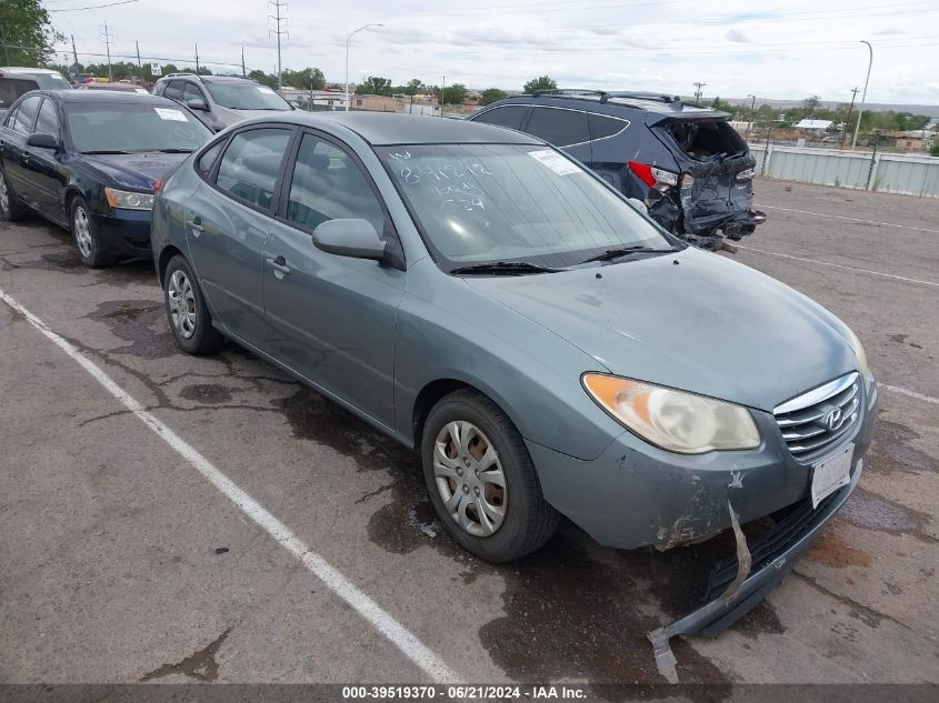
<path id="1" fill-rule="evenodd" d="M 264 121 L 269 121 L 264 118 Z M 307 127 L 322 127 L 323 122 L 341 124 L 373 147 L 392 144 L 543 144 L 540 139 L 515 130 L 448 118 L 404 114 L 401 112 L 289 112 L 277 121 Z"/>

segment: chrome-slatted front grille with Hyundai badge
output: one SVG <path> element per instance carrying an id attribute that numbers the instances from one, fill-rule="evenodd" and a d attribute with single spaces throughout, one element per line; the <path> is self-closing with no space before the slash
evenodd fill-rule
<path id="1" fill-rule="evenodd" d="M 772 414 L 789 451 L 808 463 L 851 431 L 860 404 L 858 374 L 849 373 L 782 403 Z"/>

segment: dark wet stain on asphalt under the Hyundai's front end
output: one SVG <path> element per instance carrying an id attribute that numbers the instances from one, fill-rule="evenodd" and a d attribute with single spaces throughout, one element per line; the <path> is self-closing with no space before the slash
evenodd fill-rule
<path id="1" fill-rule="evenodd" d="M 463 586 L 481 575 L 506 581 L 505 614 L 482 624 L 479 637 L 492 660 L 518 681 L 663 683 L 646 633 L 699 605 L 698 587 L 716 555 L 733 553 L 729 535 L 665 554 L 618 552 L 598 546 L 562 521 L 541 550 L 495 566 L 464 552 L 447 534 L 427 499 L 412 452 L 311 390 L 300 389 L 274 404 L 294 436 L 331 446 L 356 461 L 359 471 L 389 473 L 388 484 L 357 501 L 381 503 L 368 524 L 374 544 L 394 554 L 434 549 L 454 562 Z M 656 614 L 660 610 L 665 617 Z M 741 622 L 738 626 L 752 636 L 782 631 L 778 619 L 766 613 Z M 689 642 L 677 637 L 672 649 L 682 682 L 727 681 Z"/>

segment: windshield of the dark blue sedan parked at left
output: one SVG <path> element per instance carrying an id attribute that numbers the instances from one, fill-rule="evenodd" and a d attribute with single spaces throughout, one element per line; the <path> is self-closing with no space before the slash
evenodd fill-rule
<path id="1" fill-rule="evenodd" d="M 132 100 L 132 98 L 131 98 Z M 187 110 L 168 104 L 69 103 L 66 122 L 77 151 L 193 151 L 211 131 Z"/>

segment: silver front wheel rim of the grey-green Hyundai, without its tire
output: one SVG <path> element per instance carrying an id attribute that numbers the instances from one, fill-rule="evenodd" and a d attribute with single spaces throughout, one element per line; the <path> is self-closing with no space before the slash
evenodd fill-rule
<path id="1" fill-rule="evenodd" d="M 499 454 L 471 422 L 448 422 L 433 448 L 433 476 L 443 506 L 475 536 L 493 534 L 506 519 L 508 489 Z"/>

